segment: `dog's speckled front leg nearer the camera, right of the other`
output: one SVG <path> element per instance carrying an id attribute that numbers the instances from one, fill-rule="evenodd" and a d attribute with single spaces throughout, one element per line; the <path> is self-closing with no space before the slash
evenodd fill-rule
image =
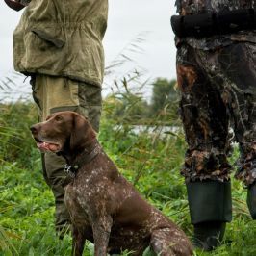
<path id="1" fill-rule="evenodd" d="M 93 225 L 94 256 L 107 255 L 113 220 L 110 216 L 97 218 Z"/>

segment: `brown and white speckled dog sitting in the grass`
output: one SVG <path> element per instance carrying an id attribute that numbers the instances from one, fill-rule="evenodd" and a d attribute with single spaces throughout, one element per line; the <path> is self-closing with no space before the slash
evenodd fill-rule
<path id="1" fill-rule="evenodd" d="M 118 172 L 86 118 L 60 112 L 31 131 L 38 148 L 63 155 L 73 174 L 64 196 L 75 255 L 82 255 L 85 240 L 94 243 L 97 256 L 126 249 L 141 256 L 148 245 L 162 256 L 192 255 L 185 233 Z"/>

